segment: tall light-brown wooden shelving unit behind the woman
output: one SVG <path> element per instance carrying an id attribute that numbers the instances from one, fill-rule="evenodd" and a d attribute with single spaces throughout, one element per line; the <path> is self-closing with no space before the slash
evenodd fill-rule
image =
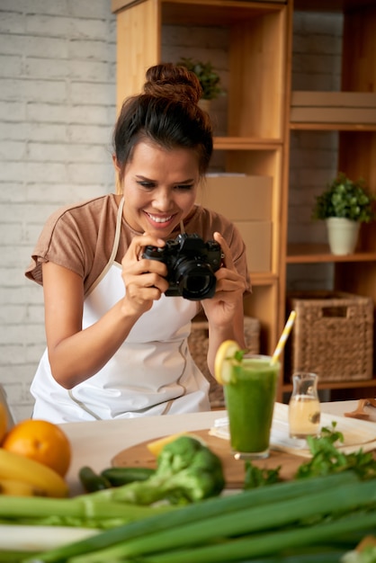
<path id="1" fill-rule="evenodd" d="M 273 352 L 282 332 L 290 264 L 333 263 L 334 290 L 369 295 L 376 304 L 375 225 L 362 227 L 354 255 L 330 255 L 327 246 L 287 245 L 291 131 L 338 131 L 340 169 L 350 177 L 366 177 L 376 193 L 376 123 L 290 119 L 294 9 L 344 14 L 342 89 L 376 93 L 376 0 L 112 0 L 119 108 L 141 91 L 147 68 L 160 62 L 166 24 L 228 29 L 227 134 L 214 139 L 214 152 L 223 172 L 273 178 L 271 267 L 257 272 L 250 264 L 253 295 L 245 303 L 246 315 L 260 320 L 263 353 Z M 189 48 L 186 56 L 191 56 Z M 376 376 L 321 387 L 376 388 Z M 290 390 L 284 380 L 278 398 Z"/>

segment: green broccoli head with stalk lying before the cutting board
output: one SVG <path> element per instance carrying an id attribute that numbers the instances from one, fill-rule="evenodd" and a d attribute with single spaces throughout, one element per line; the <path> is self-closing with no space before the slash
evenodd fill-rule
<path id="1" fill-rule="evenodd" d="M 183 435 L 160 451 L 157 470 L 151 477 L 117 487 L 112 499 L 133 505 L 151 505 L 160 500 L 188 504 L 217 496 L 224 487 L 219 457 L 192 436 Z"/>

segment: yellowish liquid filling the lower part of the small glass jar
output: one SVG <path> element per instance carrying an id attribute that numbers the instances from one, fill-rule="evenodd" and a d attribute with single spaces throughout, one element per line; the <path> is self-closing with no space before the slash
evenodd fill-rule
<path id="1" fill-rule="evenodd" d="M 289 427 L 291 438 L 306 438 L 318 435 L 320 427 L 320 404 L 318 398 L 295 395 L 289 404 Z"/>

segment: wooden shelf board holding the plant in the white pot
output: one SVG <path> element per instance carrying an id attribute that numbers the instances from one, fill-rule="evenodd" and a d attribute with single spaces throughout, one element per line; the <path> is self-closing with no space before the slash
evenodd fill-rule
<path id="1" fill-rule="evenodd" d="M 352 255 L 332 255 L 327 245 L 289 245 L 286 264 L 318 264 L 331 262 L 375 262 L 376 252 L 357 252 Z"/>

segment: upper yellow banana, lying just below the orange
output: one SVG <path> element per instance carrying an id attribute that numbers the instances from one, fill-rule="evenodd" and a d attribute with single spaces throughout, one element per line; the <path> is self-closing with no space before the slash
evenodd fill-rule
<path id="1" fill-rule="evenodd" d="M 56 471 L 4 448 L 0 448 L 0 479 L 29 483 L 46 496 L 68 496 L 67 482 Z"/>

